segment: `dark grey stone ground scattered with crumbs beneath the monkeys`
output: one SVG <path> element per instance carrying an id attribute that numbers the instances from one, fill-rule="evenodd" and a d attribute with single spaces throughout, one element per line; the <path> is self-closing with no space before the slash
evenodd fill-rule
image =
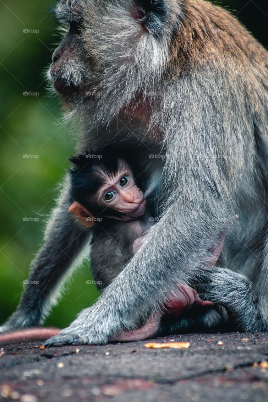
<path id="1" fill-rule="evenodd" d="M 4 346 L 0 400 L 268 400 L 268 334 L 187 334 L 154 341 L 169 339 L 189 341 L 190 347 L 147 349 L 148 341 L 45 350 L 36 342 Z"/>

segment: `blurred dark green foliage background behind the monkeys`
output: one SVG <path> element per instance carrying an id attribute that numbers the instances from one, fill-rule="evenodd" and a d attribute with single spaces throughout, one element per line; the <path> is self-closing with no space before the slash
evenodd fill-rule
<path id="1" fill-rule="evenodd" d="M 218 4 L 231 10 L 264 47 L 268 45 L 264 2 L 225 0 Z M 60 121 L 57 100 L 45 89 L 45 70 L 59 41 L 54 5 L 54 0 L 0 0 L 0 323 L 19 302 L 75 144 L 74 134 Z M 87 279 L 91 275 L 84 263 L 47 325 L 67 326 L 94 302 L 98 292 Z"/>

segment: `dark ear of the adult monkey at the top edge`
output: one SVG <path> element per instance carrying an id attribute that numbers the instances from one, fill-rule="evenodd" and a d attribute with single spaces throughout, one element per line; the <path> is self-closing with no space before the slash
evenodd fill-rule
<path id="1" fill-rule="evenodd" d="M 148 33 L 161 36 L 167 21 L 165 0 L 133 0 L 132 15 Z"/>

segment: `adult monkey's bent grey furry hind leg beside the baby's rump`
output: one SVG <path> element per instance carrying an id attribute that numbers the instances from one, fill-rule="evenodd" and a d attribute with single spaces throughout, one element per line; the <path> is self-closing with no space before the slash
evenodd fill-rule
<path id="1" fill-rule="evenodd" d="M 254 295 L 258 292 L 254 292 L 256 289 L 252 289 L 247 277 L 218 267 L 204 270 L 200 277 L 202 283 L 196 284 L 200 297 L 221 304 L 235 329 L 261 332 L 268 330 L 267 310 L 261 306 L 265 301 L 261 299 L 261 295 Z"/>

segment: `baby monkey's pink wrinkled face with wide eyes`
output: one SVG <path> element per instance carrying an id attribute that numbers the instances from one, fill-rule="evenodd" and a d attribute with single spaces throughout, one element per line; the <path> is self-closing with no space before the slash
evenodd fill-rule
<path id="1" fill-rule="evenodd" d="M 130 220 L 144 214 L 146 201 L 128 164 L 120 160 L 119 166 L 114 175 L 103 174 L 103 185 L 98 190 L 95 202 L 121 212 L 122 219 Z"/>

